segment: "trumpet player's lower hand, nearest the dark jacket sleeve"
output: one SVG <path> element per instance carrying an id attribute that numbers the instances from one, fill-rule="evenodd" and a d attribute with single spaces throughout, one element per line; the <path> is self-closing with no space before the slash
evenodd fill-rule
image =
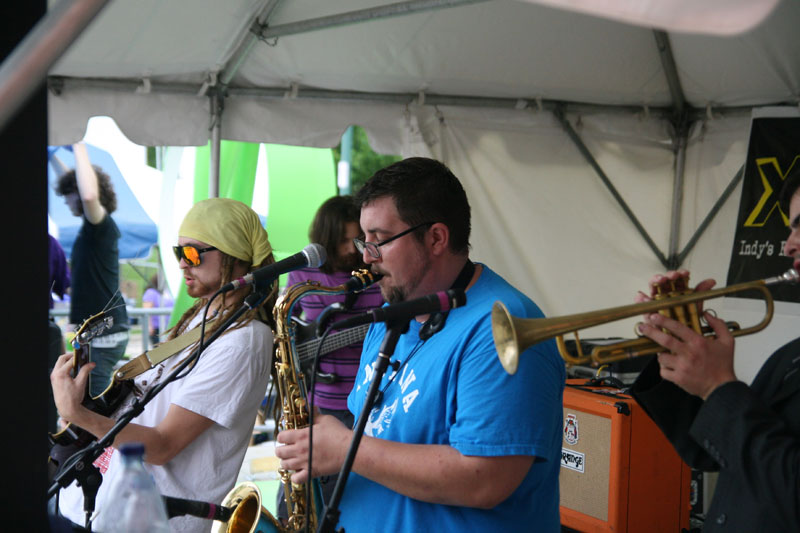
<path id="1" fill-rule="evenodd" d="M 667 351 L 657 355 L 661 377 L 703 400 L 720 385 L 736 381 L 734 338 L 723 320 L 704 314 L 716 337 L 696 333 L 677 320 L 648 315 L 639 331 Z"/>

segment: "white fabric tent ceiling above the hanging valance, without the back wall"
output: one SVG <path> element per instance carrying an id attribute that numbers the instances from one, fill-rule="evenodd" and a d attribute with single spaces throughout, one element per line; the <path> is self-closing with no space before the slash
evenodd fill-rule
<path id="1" fill-rule="evenodd" d="M 522 1 L 427 2 L 447 3 L 454 5 L 314 29 L 315 21 L 324 26 L 343 14 L 396 4 L 111 2 L 51 69 L 51 87 L 62 95 L 94 87 L 203 100 L 222 80 L 230 98 L 408 102 L 423 94 L 428 103 L 470 97 L 504 99 L 506 106 L 519 99 L 673 104 L 651 29 Z M 260 30 L 259 16 L 267 20 Z M 784 0 L 745 34 L 664 34 L 687 103 L 697 109 L 797 103 L 798 21 L 800 4 Z"/>

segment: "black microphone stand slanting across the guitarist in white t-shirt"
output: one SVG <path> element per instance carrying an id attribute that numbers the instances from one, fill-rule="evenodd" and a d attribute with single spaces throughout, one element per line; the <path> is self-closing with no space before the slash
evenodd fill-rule
<path id="1" fill-rule="evenodd" d="M 217 291 L 219 294 L 219 291 Z M 211 297 L 211 300 L 217 295 Z M 73 481 L 77 481 L 78 485 L 83 490 L 83 507 L 86 513 L 86 529 L 91 531 L 91 516 L 94 513 L 95 499 L 97 491 L 103 482 L 103 476 L 100 470 L 94 466 L 94 462 L 103 454 L 103 451 L 114 442 L 114 438 L 119 434 L 122 429 L 127 426 L 134 418 L 139 416 L 144 411 L 147 405 L 164 387 L 177 379 L 177 376 L 186 369 L 189 365 L 193 364 L 200 357 L 203 350 L 214 342 L 220 335 L 222 335 L 231 324 L 239 319 L 244 313 L 249 310 L 257 308 L 266 299 L 269 293 L 260 290 L 259 287 L 250 293 L 237 309 L 228 319 L 208 338 L 198 346 L 192 354 L 181 361 L 167 377 L 159 382 L 156 386 L 148 390 L 141 399 L 135 400 L 130 408 L 122 413 L 117 419 L 116 424 L 108 430 L 108 433 L 103 435 L 102 438 L 89 444 L 82 450 L 74 453 L 69 459 L 64 462 L 64 465 L 59 469 L 56 476 L 53 478 L 53 484 L 47 491 L 47 499 L 50 500 L 61 488 L 66 488 Z M 211 302 L 209 300 L 209 303 Z M 200 326 L 198 326 L 200 327 Z"/>

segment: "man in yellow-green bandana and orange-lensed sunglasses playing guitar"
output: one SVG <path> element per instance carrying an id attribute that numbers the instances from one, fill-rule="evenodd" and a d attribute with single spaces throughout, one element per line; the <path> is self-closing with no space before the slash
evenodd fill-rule
<path id="1" fill-rule="evenodd" d="M 274 263 L 267 232 L 247 205 L 212 198 L 195 204 L 181 224 L 174 247 L 194 305 L 178 320 L 169 338 L 200 325 L 209 299 L 224 284 L 256 268 Z M 221 294 L 211 301 L 205 338 L 238 310 L 250 286 Z M 270 291 L 270 288 L 266 289 Z M 110 504 L 109 487 L 122 470 L 116 447 L 126 442 L 145 446 L 144 460 L 164 496 L 219 503 L 233 487 L 252 434 L 256 412 L 272 366 L 272 307 L 277 283 L 255 309 L 241 315 L 209 344 L 185 377 L 169 383 L 125 426 L 95 465 L 103 474 L 97 494 L 93 529 L 103 531 L 117 517 L 103 514 Z M 173 367 L 194 350 L 178 354 L 136 378 L 146 390 L 171 374 Z M 61 417 L 98 438 L 115 424 L 83 405 L 92 364 L 70 376 L 71 355 L 59 358 L 50 380 Z M 60 494 L 59 510 L 76 525 L 85 523 L 83 493 L 72 484 Z M 207 531 L 210 520 L 188 516 L 170 520 L 173 531 Z"/>

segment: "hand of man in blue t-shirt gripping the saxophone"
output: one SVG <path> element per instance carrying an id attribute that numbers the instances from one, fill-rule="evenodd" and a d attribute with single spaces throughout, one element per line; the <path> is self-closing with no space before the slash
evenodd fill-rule
<path id="1" fill-rule="evenodd" d="M 338 418 L 317 412 L 314 415 L 314 453 L 311 477 L 337 474 L 347 457 L 353 432 Z M 278 433 L 275 448 L 281 468 L 291 470 L 293 483 L 308 481 L 308 428 L 287 429 Z"/>

